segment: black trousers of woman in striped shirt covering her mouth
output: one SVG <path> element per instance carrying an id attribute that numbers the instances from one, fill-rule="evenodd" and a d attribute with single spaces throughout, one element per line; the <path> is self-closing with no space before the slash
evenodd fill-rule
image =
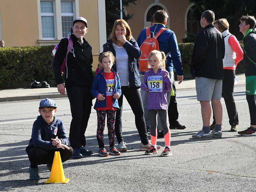
<path id="1" fill-rule="evenodd" d="M 132 112 L 135 115 L 136 128 L 140 135 L 141 142 L 148 144 L 148 134 L 146 130 L 146 123 L 144 119 L 144 109 L 140 96 L 140 87 L 128 87 L 121 86 L 122 95 L 118 99 L 118 105 L 120 109 L 116 111 L 115 132 L 118 143 L 124 141 L 122 134 L 122 111 L 123 111 L 123 97 L 125 96 L 129 105 L 132 108 Z"/>

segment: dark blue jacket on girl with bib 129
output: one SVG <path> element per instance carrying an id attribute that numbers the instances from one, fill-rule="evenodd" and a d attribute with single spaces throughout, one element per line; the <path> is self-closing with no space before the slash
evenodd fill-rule
<path id="1" fill-rule="evenodd" d="M 114 70 L 112 70 L 112 72 L 114 73 L 114 77 L 115 77 L 113 94 L 117 92 L 119 96 L 121 96 L 122 92 L 121 92 L 119 76 Z M 106 86 L 107 86 L 106 79 L 103 75 L 103 69 L 101 69 L 100 72 L 94 77 L 92 81 L 91 94 L 95 98 L 97 98 L 98 94 L 103 94 L 104 95 L 103 97 L 105 97 L 105 99 L 103 101 L 96 99 L 96 102 L 93 108 L 107 107 Z M 114 99 L 114 98 L 113 98 L 113 107 L 119 109 L 118 101 L 117 99 Z"/>

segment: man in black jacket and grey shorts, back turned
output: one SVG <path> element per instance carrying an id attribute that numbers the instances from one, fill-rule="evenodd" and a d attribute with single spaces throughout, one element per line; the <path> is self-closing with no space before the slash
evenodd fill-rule
<path id="1" fill-rule="evenodd" d="M 201 16 L 203 30 L 197 35 L 191 61 L 191 75 L 196 77 L 196 97 L 200 101 L 203 129 L 192 135 L 196 139 L 222 137 L 222 106 L 220 103 L 223 62 L 225 56 L 224 38 L 214 25 L 214 12 L 207 10 Z M 216 125 L 210 132 L 212 102 Z"/>

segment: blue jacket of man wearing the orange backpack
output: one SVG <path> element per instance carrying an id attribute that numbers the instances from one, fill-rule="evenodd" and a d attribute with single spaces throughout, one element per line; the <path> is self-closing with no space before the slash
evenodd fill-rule
<path id="1" fill-rule="evenodd" d="M 150 31 L 156 33 L 161 29 L 165 28 L 165 26 L 161 23 L 155 23 L 152 27 L 150 27 Z M 146 39 L 146 29 L 142 29 L 140 32 L 137 42 L 140 45 Z M 174 32 L 170 29 L 165 30 L 158 38 L 157 38 L 159 49 L 163 51 L 165 55 L 169 52 L 168 56 L 166 57 L 165 62 L 165 69 L 168 72 L 173 71 L 173 66 L 177 75 L 183 75 L 183 69 L 181 64 L 181 57 L 180 57 L 180 50 L 178 47 L 177 39 Z M 142 74 L 143 75 L 143 74 Z"/>

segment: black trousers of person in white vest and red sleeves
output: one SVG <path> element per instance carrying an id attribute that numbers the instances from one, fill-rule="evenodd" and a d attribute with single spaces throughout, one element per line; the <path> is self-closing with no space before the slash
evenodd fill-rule
<path id="1" fill-rule="evenodd" d="M 238 114 L 236 110 L 236 103 L 234 99 L 234 85 L 235 85 L 236 71 L 231 69 L 223 69 L 222 80 L 222 97 L 225 100 L 229 124 L 238 125 Z M 215 123 L 215 117 L 213 112 L 213 122 Z"/>

